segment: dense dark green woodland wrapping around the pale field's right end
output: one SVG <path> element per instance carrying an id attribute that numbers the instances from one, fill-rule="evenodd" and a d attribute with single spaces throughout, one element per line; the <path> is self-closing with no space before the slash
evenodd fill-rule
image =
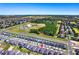
<path id="1" fill-rule="evenodd" d="M 46 26 L 43 28 L 40 28 L 38 30 L 31 30 L 33 33 L 44 33 L 49 36 L 53 36 L 56 33 L 57 27 L 57 21 L 53 20 L 52 18 L 44 18 L 44 19 L 37 19 L 31 21 L 33 23 L 44 23 Z"/>

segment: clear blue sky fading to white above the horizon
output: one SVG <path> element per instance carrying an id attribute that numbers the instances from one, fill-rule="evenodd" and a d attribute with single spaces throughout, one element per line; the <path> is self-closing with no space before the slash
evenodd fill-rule
<path id="1" fill-rule="evenodd" d="M 0 15 L 79 15 L 79 4 L 0 3 Z"/>

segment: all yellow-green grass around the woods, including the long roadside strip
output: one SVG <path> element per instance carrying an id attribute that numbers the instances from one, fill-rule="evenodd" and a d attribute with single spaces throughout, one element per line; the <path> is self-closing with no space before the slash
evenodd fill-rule
<path id="1" fill-rule="evenodd" d="M 32 24 L 33 26 L 28 27 L 26 29 L 20 29 L 20 27 L 26 26 L 27 24 Z M 45 24 L 36 24 L 36 23 L 23 23 L 20 25 L 16 25 L 16 26 L 12 26 L 9 28 L 6 28 L 5 30 L 7 32 L 11 32 L 11 33 L 15 33 L 15 34 L 24 34 L 26 36 L 30 36 L 30 37 L 36 37 L 36 38 L 41 38 L 41 39 L 46 39 L 46 40 L 50 40 L 50 41 L 55 41 L 55 42 L 60 42 L 60 43 L 67 43 L 66 39 L 61 39 L 61 38 L 57 38 L 57 36 L 48 36 L 45 35 L 43 33 L 40 34 L 35 34 L 35 33 L 30 33 L 30 29 L 39 29 L 41 27 L 44 27 Z M 60 27 L 59 25 L 57 25 L 58 27 Z M 57 30 L 58 33 L 58 30 Z"/>

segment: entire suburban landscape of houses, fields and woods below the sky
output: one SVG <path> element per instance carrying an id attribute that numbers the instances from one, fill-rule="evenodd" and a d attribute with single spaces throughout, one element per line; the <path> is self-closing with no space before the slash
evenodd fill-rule
<path id="1" fill-rule="evenodd" d="M 79 16 L 0 15 L 0 55 L 79 55 Z"/>

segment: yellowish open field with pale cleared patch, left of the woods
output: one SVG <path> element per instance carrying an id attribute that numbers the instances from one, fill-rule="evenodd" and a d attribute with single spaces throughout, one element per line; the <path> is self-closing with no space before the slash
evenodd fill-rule
<path id="1" fill-rule="evenodd" d="M 27 25 L 31 25 L 31 27 L 27 27 Z M 24 23 L 13 27 L 9 27 L 7 28 L 7 31 L 17 32 L 17 33 L 27 33 L 30 31 L 30 29 L 39 29 L 44 26 L 45 24 Z"/>

